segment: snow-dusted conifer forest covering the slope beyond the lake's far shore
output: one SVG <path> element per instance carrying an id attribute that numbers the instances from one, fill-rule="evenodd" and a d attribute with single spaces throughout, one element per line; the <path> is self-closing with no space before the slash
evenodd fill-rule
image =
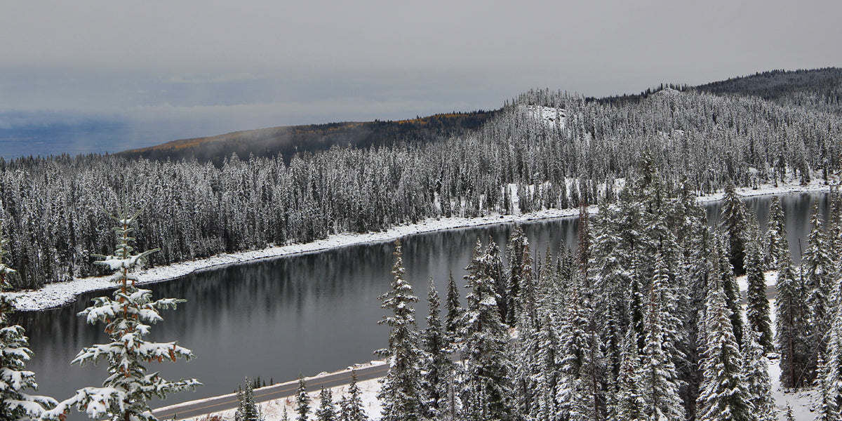
<path id="1" fill-rule="evenodd" d="M 477 131 L 442 141 L 331 147 L 287 157 L 0 160 L 0 218 L 13 285 L 99 274 L 115 247 L 104 208 L 144 204 L 136 237 L 152 264 L 482 216 L 616 200 L 644 152 L 669 189 L 693 194 L 839 172 L 838 115 L 751 97 L 663 90 L 637 104 L 530 91 Z M 129 182 L 128 180 L 131 180 Z M 518 195 L 514 195 L 514 191 Z M 125 189 L 125 192 L 124 192 Z"/>

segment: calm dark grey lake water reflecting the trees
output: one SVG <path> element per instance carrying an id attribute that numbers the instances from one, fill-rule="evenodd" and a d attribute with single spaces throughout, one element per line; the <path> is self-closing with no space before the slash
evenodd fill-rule
<path id="1" fill-rule="evenodd" d="M 761 226 L 765 226 L 770 197 L 746 200 Z M 806 247 L 813 202 L 818 200 L 827 211 L 825 195 L 780 197 L 793 255 L 797 255 L 799 238 Z M 716 223 L 719 209 L 717 203 L 706 205 L 711 223 Z M 574 218 L 562 218 L 523 226 L 533 252 L 546 253 L 549 246 L 557 255 L 560 248 L 575 248 L 576 225 Z M 463 268 L 477 237 L 483 243 L 492 237 L 504 250 L 512 227 L 464 228 L 402 239 L 407 279 L 420 299 L 416 306 L 419 324 L 424 324 L 427 313 L 429 278 L 434 278 L 443 296 L 451 270 L 457 280 L 466 274 Z M 205 270 L 147 285 L 154 297 L 187 300 L 177 311 L 163 312 L 164 321 L 152 327 L 151 338 L 178 340 L 196 355 L 189 362 L 148 368 L 160 370 L 165 378 L 195 377 L 205 384 L 194 393 L 173 395 L 166 403 L 153 402 L 153 407 L 232 392 L 245 376 L 259 376 L 267 383 L 288 381 L 299 374 L 312 376 L 373 360 L 372 351 L 385 346 L 388 337 L 388 329 L 376 325 L 384 314 L 377 296 L 392 281 L 393 251 L 391 242 L 350 246 Z M 54 310 L 16 315 L 35 352 L 28 369 L 35 371 L 41 394 L 62 400 L 80 387 L 101 385 L 106 365 L 70 365 L 84 346 L 108 341 L 101 325 L 88 325 L 76 316 L 93 296 L 101 294 L 80 296 L 76 303 Z"/>

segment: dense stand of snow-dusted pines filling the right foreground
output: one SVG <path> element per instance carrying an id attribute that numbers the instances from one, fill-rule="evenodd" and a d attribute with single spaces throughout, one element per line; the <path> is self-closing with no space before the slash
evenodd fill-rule
<path id="1" fill-rule="evenodd" d="M 690 190 L 670 189 L 644 157 L 614 205 L 580 214 L 574 254 L 536 254 L 519 228 L 505 252 L 477 240 L 467 305 L 450 280 L 440 317 L 430 282 L 420 330 L 398 244 L 381 297 L 392 327 L 381 419 L 774 421 L 772 351 L 781 385 L 818 386 L 818 419 L 839 419 L 842 196 L 831 193 L 828 221 L 814 210 L 798 268 L 779 204 L 761 236 L 733 186 L 724 201 L 712 229 Z M 775 309 L 767 268 L 780 273 Z M 748 275 L 744 310 L 737 272 Z M 461 364 L 446 358 L 455 351 Z"/>

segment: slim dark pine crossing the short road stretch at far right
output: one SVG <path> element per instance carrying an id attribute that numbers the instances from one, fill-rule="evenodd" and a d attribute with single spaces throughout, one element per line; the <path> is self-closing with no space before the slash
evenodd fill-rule
<path id="1" fill-rule="evenodd" d="M 749 284 L 745 308 L 748 328 L 759 333 L 758 343 L 764 352 L 771 352 L 775 349 L 775 338 L 772 337 L 769 299 L 766 297 L 766 277 L 761 267 L 760 247 L 754 240 L 746 244 L 745 271 Z"/>

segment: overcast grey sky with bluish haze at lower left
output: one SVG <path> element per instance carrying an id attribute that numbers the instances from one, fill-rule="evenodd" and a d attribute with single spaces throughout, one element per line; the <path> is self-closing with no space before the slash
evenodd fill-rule
<path id="1" fill-rule="evenodd" d="M 840 67 L 839 16 L 838 0 L 8 0 L 0 154 L 31 138 L 22 128 L 107 122 L 100 141 L 70 142 L 115 152 L 496 109 L 530 88 L 605 96 Z"/>

